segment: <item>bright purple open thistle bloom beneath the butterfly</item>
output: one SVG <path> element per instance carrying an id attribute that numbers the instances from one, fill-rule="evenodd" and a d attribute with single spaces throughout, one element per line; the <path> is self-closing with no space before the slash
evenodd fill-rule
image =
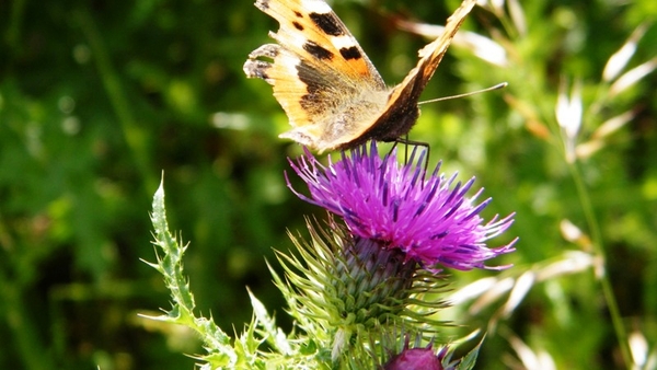
<path id="1" fill-rule="evenodd" d="M 479 205 L 483 189 L 468 198 L 474 177 L 464 185 L 456 174 L 446 180 L 438 165 L 430 176 L 423 167 L 426 150 L 413 150 L 406 164 L 396 160 L 396 149 L 383 159 L 372 142 L 342 153 L 336 163 L 322 165 L 307 150 L 296 162 L 295 172 L 307 183 L 310 197 L 288 187 L 301 199 L 341 217 L 357 236 L 377 241 L 382 248 L 399 248 L 405 261 L 431 270 L 437 265 L 469 270 L 487 267 L 484 262 L 515 251 L 516 240 L 488 248 L 485 242 L 507 230 L 514 213 L 483 223 L 479 215 L 491 198 Z M 436 269 L 437 270 L 437 269 Z"/>

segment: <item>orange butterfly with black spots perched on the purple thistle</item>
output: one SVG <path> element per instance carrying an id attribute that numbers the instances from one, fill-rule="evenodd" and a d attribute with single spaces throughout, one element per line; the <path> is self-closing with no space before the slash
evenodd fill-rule
<path id="1" fill-rule="evenodd" d="M 280 138 L 320 153 L 367 140 L 401 141 L 419 117 L 420 93 L 475 3 L 463 0 L 442 35 L 418 51 L 417 66 L 400 84 L 388 88 L 326 2 L 256 0 L 255 7 L 280 27 L 269 32 L 277 44 L 253 50 L 244 72 L 273 85 L 292 126 Z"/>

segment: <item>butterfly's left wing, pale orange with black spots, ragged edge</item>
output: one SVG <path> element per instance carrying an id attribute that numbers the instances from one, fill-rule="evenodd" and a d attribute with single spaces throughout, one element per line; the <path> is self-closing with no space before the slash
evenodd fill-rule
<path id="1" fill-rule="evenodd" d="M 278 44 L 249 55 L 247 77 L 273 85 L 292 130 L 280 137 L 320 151 L 354 139 L 371 112 L 382 112 L 388 89 L 347 27 L 322 0 L 257 0 L 280 24 Z M 274 62 L 257 58 L 269 58 Z M 371 119 L 371 118 L 370 118 Z"/>

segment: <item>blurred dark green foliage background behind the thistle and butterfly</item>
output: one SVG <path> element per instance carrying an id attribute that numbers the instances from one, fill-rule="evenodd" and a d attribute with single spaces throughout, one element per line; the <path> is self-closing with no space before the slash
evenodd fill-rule
<path id="1" fill-rule="evenodd" d="M 457 5 L 333 3 L 391 85 L 426 44 L 395 20 L 442 24 Z M 431 144 L 431 163 L 477 177 L 494 198 L 486 217 L 517 212 L 492 242 L 520 236 L 518 251 L 495 262 L 516 267 L 457 274 L 454 288 L 538 270 L 565 251 L 593 253 L 587 236 L 601 240 L 623 323 L 654 356 L 656 15 L 654 0 L 476 8 L 464 28 L 493 37 L 503 62 L 456 45 L 423 97 L 509 86 L 423 106 L 411 132 Z M 250 0 L 0 2 L 0 368 L 193 368 L 184 354 L 203 352 L 194 334 L 138 316 L 170 307 L 160 276 L 140 261 L 154 259 L 148 212 L 162 173 L 170 224 L 191 242 L 185 266 L 199 312 L 241 331 L 251 319 L 249 286 L 289 327 L 265 258 L 291 246 L 286 230 L 303 232 L 304 215 L 322 213 L 286 189 L 286 158 L 301 150 L 277 138 L 287 118 L 270 88 L 242 72 L 269 30 L 277 24 Z M 618 76 L 602 72 L 633 33 L 636 53 L 619 74 L 653 63 L 618 92 Z M 581 95 L 575 166 L 555 119 L 560 91 Z M 623 113 L 624 125 L 600 129 Z M 565 219 L 584 236 L 564 239 Z M 528 367 L 515 337 L 558 369 L 621 367 L 595 273 L 535 281 L 486 338 L 479 368 Z M 477 314 L 463 308 L 451 317 L 462 327 L 447 335 L 485 327 L 502 304 Z"/>

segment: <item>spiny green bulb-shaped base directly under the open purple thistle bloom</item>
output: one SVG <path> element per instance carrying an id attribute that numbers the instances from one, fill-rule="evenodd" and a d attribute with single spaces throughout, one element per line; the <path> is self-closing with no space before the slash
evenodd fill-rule
<path id="1" fill-rule="evenodd" d="M 311 242 L 292 238 L 301 258 L 278 254 L 287 282 L 277 280 L 290 313 L 310 338 L 318 338 L 319 356 L 350 362 L 378 357 L 372 338 L 399 327 L 435 333 L 442 323 L 428 316 L 445 308 L 419 296 L 440 292 L 443 278 L 399 248 L 354 236 L 331 217 L 326 230 L 308 222 Z"/>

